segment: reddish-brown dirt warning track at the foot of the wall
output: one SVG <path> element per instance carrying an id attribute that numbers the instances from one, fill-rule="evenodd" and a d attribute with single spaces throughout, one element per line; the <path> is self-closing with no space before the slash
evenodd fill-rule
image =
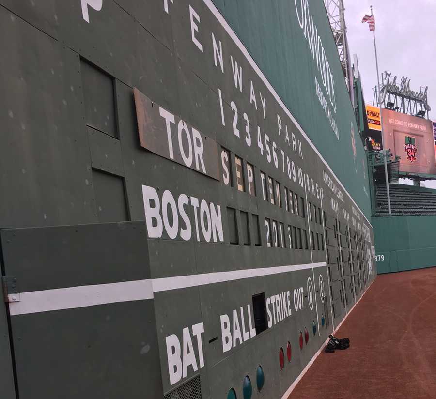
<path id="1" fill-rule="evenodd" d="M 376 278 L 289 399 L 436 398 L 436 267 Z"/>

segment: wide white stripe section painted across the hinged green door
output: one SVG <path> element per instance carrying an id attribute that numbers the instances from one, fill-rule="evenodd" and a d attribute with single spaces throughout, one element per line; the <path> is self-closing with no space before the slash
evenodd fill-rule
<path id="1" fill-rule="evenodd" d="M 152 298 L 151 280 L 121 281 L 110 284 L 21 292 L 20 302 L 9 303 L 9 312 L 14 316 Z"/>

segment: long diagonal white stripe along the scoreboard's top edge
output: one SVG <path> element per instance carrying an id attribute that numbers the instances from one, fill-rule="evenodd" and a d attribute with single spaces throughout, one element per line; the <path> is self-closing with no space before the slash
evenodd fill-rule
<path id="1" fill-rule="evenodd" d="M 242 42 L 239 40 L 236 33 L 233 31 L 233 29 L 230 27 L 230 25 L 227 23 L 227 21 L 224 19 L 224 17 L 221 15 L 221 13 L 218 11 L 218 8 L 215 6 L 215 4 L 212 2 L 212 0 L 203 0 L 206 6 L 209 8 L 209 10 L 212 12 L 213 15 L 218 19 L 218 22 L 221 24 L 221 26 L 224 28 L 224 30 L 229 34 L 229 36 L 233 39 L 236 46 L 239 47 L 239 50 L 241 50 L 242 54 L 245 56 L 247 61 L 249 61 L 249 64 L 254 69 L 254 71 L 257 73 L 257 75 L 262 79 L 265 86 L 269 90 L 269 92 L 273 95 L 273 97 L 276 99 L 276 101 L 280 104 L 280 107 L 283 109 L 283 111 L 291 118 L 291 121 L 295 123 L 297 129 L 300 131 L 301 135 L 306 139 L 306 141 L 309 143 L 313 151 L 320 157 L 320 159 L 323 161 L 324 165 L 327 167 L 329 172 L 332 174 L 332 176 L 336 179 L 336 181 L 339 183 L 339 185 L 342 187 L 344 192 L 348 195 L 348 197 L 352 200 L 354 205 L 358 208 L 360 213 L 363 215 L 363 217 L 366 219 L 366 221 L 369 223 L 371 227 L 372 224 L 368 220 L 368 218 L 365 216 L 365 214 L 361 211 L 360 207 L 356 203 L 356 201 L 351 197 L 350 193 L 345 189 L 342 182 L 338 179 L 338 177 L 335 175 L 333 170 L 330 168 L 330 166 L 327 164 L 324 157 L 321 155 L 321 153 L 318 151 L 318 149 L 315 147 L 315 145 L 311 142 L 311 139 L 306 135 L 303 128 L 300 126 L 300 124 L 295 119 L 294 115 L 292 115 L 291 111 L 286 107 L 286 105 L 281 100 L 279 94 L 274 90 L 271 83 L 269 83 L 268 79 L 265 77 L 259 66 L 256 64 L 256 62 L 253 60 L 251 55 L 249 54 L 247 48 L 242 44 Z"/>

